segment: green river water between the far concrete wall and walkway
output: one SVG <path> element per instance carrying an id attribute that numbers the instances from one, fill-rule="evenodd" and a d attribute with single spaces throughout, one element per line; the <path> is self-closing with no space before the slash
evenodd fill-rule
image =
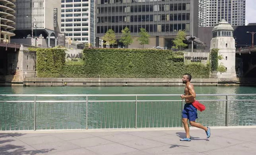
<path id="1" fill-rule="evenodd" d="M 198 87 L 197 96 L 206 106 L 198 111 L 198 122 L 208 126 L 225 125 L 226 96 L 217 94 L 256 94 L 256 87 Z M 138 96 L 138 100 L 179 100 L 168 102 L 93 102 L 93 100 L 135 100 L 135 96 L 89 97 L 88 128 L 180 127 L 184 87 L 0 87 L 0 94 L 176 94 L 177 96 Z M 34 100 L 34 97 L 0 96 L 0 100 Z M 37 97 L 39 100 L 82 100 L 84 102 L 37 102 L 36 129 L 85 129 L 86 97 Z M 214 100 L 214 101 L 209 101 Z M 228 124 L 256 125 L 256 96 L 229 96 Z M 240 101 L 237 101 L 240 100 Z M 250 100 L 250 101 L 248 101 Z M 2 104 L 2 105 L 1 105 Z M 0 130 L 27 130 L 34 126 L 33 102 L 0 102 Z"/>

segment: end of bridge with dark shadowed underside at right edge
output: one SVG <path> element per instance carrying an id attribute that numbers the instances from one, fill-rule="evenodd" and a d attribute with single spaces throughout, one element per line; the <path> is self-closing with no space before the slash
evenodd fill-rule
<path id="1" fill-rule="evenodd" d="M 243 77 L 255 78 L 256 46 L 236 49 L 236 57 L 242 62 Z"/>

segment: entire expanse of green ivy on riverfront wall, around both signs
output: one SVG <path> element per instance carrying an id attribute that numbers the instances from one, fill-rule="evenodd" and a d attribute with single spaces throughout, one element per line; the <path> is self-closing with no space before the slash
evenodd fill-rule
<path id="1" fill-rule="evenodd" d="M 85 48 L 81 61 L 65 62 L 65 49 L 37 52 L 37 77 L 73 78 L 209 78 L 208 63 L 184 63 L 184 53 L 159 49 Z"/>

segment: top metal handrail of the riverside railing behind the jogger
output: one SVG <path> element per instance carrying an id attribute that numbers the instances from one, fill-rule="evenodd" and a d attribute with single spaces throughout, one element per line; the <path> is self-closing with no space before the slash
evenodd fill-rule
<path id="1" fill-rule="evenodd" d="M 37 97 L 63 97 L 63 96 L 180 96 L 181 94 L 2 94 L 0 96 L 37 96 Z M 196 94 L 196 96 L 256 96 L 256 94 Z"/>

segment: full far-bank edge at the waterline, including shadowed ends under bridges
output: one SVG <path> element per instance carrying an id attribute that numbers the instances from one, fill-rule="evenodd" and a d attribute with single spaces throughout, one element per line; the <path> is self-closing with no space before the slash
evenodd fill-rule
<path id="1" fill-rule="evenodd" d="M 256 86 L 256 79 L 249 78 L 215 78 L 192 79 L 196 86 Z M 160 78 L 25 78 L 20 82 L 2 82 L 5 86 L 183 86 L 181 79 Z"/>

